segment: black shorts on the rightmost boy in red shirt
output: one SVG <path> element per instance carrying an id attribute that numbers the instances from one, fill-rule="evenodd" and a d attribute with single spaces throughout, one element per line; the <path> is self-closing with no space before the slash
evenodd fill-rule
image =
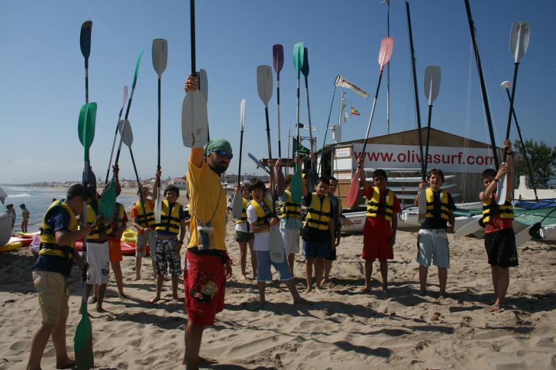
<path id="1" fill-rule="evenodd" d="M 484 235 L 484 247 L 489 264 L 498 267 L 518 266 L 516 235 L 513 228 L 505 228 Z"/>

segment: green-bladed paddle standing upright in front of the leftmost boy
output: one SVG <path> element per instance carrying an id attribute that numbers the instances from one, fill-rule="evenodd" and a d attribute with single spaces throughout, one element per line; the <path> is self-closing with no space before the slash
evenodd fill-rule
<path id="1" fill-rule="evenodd" d="M 83 212 L 81 220 L 87 219 L 87 185 L 89 182 L 89 149 L 95 139 L 95 121 L 97 119 L 97 103 L 85 103 L 79 112 L 78 133 L 79 141 L 83 144 Z M 92 179 L 91 179 L 92 180 Z M 83 237 L 83 263 L 87 262 L 87 238 Z M 75 329 L 74 351 L 78 369 L 92 369 L 92 326 L 87 314 L 87 273 L 83 269 L 83 283 L 81 286 L 81 320 Z"/>

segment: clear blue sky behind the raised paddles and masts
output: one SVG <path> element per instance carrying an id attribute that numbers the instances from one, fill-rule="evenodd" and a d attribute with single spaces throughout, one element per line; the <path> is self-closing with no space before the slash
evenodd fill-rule
<path id="1" fill-rule="evenodd" d="M 421 115 L 427 103 L 423 73 L 442 68 L 432 126 L 475 140 L 488 140 L 477 69 L 471 50 L 464 1 L 410 1 Z M 554 1 L 471 0 L 482 52 L 496 140 L 505 135 L 508 103 L 500 83 L 514 70 L 509 53 L 513 22 L 531 22 L 528 52 L 521 60 L 515 110 L 526 138 L 556 145 L 556 24 Z M 236 173 L 239 151 L 239 105 L 247 99 L 242 173 L 255 171 L 247 151 L 268 156 L 263 103 L 256 92 L 256 67 L 272 65 L 272 45 L 284 45 L 281 80 L 281 139 L 285 153 L 290 122 L 295 123 L 296 76 L 293 45 L 309 49 L 311 121 L 322 145 L 334 78 L 341 74 L 373 96 L 377 56 L 386 35 L 386 5 L 379 1 L 197 1 L 197 68 L 208 73 L 208 119 L 211 135 L 234 147 L 229 171 Z M 81 23 L 92 19 L 90 100 L 98 103 L 97 131 L 91 148 L 93 169 L 106 173 L 124 85 L 131 85 L 138 52 L 145 47 L 129 119 L 133 154 L 140 176 L 156 169 L 157 77 L 152 68 L 152 40 L 168 40 L 168 63 L 162 78 L 163 176 L 186 172 L 188 149 L 181 142 L 183 81 L 190 72 L 188 1 L 2 1 L 0 3 L 0 183 L 79 180 L 83 149 L 77 136 L 79 110 L 85 103 Z M 405 6 L 391 0 L 391 132 L 416 127 Z M 470 69 L 471 68 L 471 69 Z M 383 80 L 383 82 L 385 82 Z M 131 86 L 130 86 L 131 87 Z M 348 92 L 349 106 L 361 116 L 343 129 L 343 140 L 365 135 L 372 98 Z M 302 90 L 301 121 L 306 122 Z M 275 96 L 269 104 L 272 152 L 277 154 Z M 332 121 L 337 120 L 338 101 Z M 294 128 L 292 127 L 292 130 Z M 307 133 L 307 131 L 305 131 Z M 386 133 L 386 85 L 383 83 L 370 135 Z M 512 137 L 516 137 L 512 128 Z M 332 142 L 332 135 L 327 135 Z M 6 159 L 7 158 L 7 159 Z M 133 178 L 131 158 L 120 159 L 121 176 Z"/>

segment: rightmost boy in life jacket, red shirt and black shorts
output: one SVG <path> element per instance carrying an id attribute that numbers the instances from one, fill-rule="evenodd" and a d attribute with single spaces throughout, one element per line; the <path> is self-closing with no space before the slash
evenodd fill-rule
<path id="1" fill-rule="evenodd" d="M 494 303 L 489 311 L 495 312 L 502 308 L 509 285 L 509 267 L 518 266 L 516 235 L 514 234 L 514 207 L 511 203 L 514 194 L 512 178 L 512 142 L 504 143 L 507 152 L 507 164 L 502 163 L 498 172 L 485 169 L 482 172 L 484 192 L 479 194 L 482 201 L 482 221 L 484 223 L 484 248 L 491 265 L 492 283 L 494 286 Z M 496 203 L 496 190 L 503 174 L 507 178 L 506 201 L 504 205 Z"/>

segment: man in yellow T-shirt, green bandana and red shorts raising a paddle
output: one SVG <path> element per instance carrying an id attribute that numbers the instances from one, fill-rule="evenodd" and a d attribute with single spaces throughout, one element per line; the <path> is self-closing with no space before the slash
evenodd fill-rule
<path id="1" fill-rule="evenodd" d="M 197 77 L 189 76 L 186 92 L 197 90 Z M 192 148 L 189 155 L 187 188 L 190 199 L 190 239 L 183 271 L 188 323 L 186 354 L 183 363 L 198 369 L 205 326 L 213 325 L 215 316 L 224 309 L 226 279 L 231 263 L 226 244 L 226 191 L 220 175 L 228 169 L 231 145 L 227 140 L 211 140 L 204 148 Z M 199 228 L 201 230 L 199 230 Z"/>

